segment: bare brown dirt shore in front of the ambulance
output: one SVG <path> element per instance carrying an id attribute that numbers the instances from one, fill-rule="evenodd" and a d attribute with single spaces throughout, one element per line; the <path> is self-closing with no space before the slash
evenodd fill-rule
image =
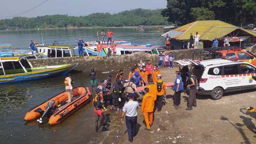
<path id="1" fill-rule="evenodd" d="M 177 68 L 160 68 L 163 80 L 174 81 Z M 151 131 L 144 130 L 143 114 L 138 110 L 138 134 L 134 144 L 255 144 L 256 132 L 254 113 L 243 108 L 256 105 L 256 92 L 242 91 L 224 94 L 220 100 L 197 95 L 197 108 L 186 111 L 188 96 L 182 93 L 180 106 L 173 106 L 174 91 L 167 88 L 170 102 L 161 112 L 155 112 Z M 141 97 L 139 98 L 139 101 Z M 141 105 L 141 103 L 140 103 Z M 125 123 L 120 122 L 121 113 L 106 112 L 109 131 L 97 133 L 93 144 L 129 144 Z"/>

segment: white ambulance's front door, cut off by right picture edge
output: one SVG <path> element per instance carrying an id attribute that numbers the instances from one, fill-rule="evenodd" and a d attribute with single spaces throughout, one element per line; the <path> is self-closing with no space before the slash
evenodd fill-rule
<path id="1" fill-rule="evenodd" d="M 255 87 L 256 81 L 252 79 L 255 76 L 255 67 L 250 64 L 240 64 L 240 74 L 242 89 Z"/>

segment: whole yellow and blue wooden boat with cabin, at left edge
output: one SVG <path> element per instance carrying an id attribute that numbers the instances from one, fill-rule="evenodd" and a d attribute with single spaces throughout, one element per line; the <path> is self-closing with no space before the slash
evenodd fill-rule
<path id="1" fill-rule="evenodd" d="M 63 64 L 33 67 L 26 58 L 26 55 L 0 57 L 0 63 L 0 70 L 2 69 L 0 71 L 0 84 L 64 76 L 77 66 L 77 64 Z M 30 68 L 25 68 L 25 66 L 29 66 Z"/>

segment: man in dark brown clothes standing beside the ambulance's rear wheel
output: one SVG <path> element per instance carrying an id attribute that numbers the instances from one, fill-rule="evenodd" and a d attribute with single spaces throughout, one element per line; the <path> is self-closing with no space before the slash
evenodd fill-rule
<path id="1" fill-rule="evenodd" d="M 196 107 L 196 87 L 197 87 L 197 80 L 196 76 L 193 75 L 192 70 L 188 71 L 188 75 L 190 77 L 190 82 L 188 84 L 189 96 L 188 96 L 188 108 L 186 110 L 192 110 L 192 107 Z"/>

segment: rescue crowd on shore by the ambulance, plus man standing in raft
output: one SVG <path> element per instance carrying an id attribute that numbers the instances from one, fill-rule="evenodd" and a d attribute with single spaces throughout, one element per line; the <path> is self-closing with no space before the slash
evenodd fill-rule
<path id="1" fill-rule="evenodd" d="M 196 106 L 196 76 L 192 74 L 191 70 L 188 70 L 187 66 L 176 71 L 175 76 L 173 105 L 180 105 L 181 93 L 187 92 L 189 100 L 186 110 L 192 110 L 192 107 Z M 153 66 L 150 60 L 147 60 L 147 63 L 145 63 L 141 59 L 138 64 L 134 64 L 134 67 L 131 68 L 128 80 L 124 78 L 123 70 L 119 70 L 114 80 L 109 75 L 106 80 L 97 82 L 94 69 L 91 70 L 89 77 L 91 86 L 96 92 L 96 96 L 93 98 L 96 132 L 108 131 L 106 126 L 107 116 L 104 113 L 107 110 L 106 107 L 108 107 L 108 110 L 111 112 L 122 112 L 121 121 L 123 123 L 125 116 L 129 141 L 132 142 L 136 132 L 137 110 L 140 108 L 138 100 L 141 100 L 141 98 L 140 110 L 144 116 L 145 130 L 151 129 L 155 111 L 160 112 L 163 102 L 166 100 L 166 83 L 162 80 L 162 75 L 157 65 Z M 65 79 L 69 102 L 72 101 L 73 96 L 72 83 L 72 77 L 69 74 Z M 140 91 L 138 90 L 138 87 L 141 86 L 144 86 L 144 91 L 141 88 Z M 189 89 L 189 91 L 186 89 Z M 142 95 L 144 96 L 142 97 Z M 98 128 L 100 117 L 103 118 L 102 130 Z"/>

